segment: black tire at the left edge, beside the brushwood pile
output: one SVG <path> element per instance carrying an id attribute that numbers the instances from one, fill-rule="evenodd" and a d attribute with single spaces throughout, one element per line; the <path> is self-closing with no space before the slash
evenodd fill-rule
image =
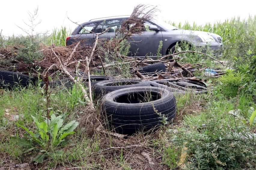
<path id="1" fill-rule="evenodd" d="M 26 87 L 35 85 L 35 78 L 16 72 L 0 70 L 0 86 L 2 88 L 14 89 L 15 87 Z"/>

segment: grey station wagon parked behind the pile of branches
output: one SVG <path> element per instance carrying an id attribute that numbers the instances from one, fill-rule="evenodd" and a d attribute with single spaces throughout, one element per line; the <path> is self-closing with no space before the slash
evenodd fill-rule
<path id="1" fill-rule="evenodd" d="M 108 32 L 99 35 L 99 38 L 111 39 L 115 36 L 115 31 L 120 28 L 121 23 L 129 16 L 115 16 L 99 19 L 91 19 L 78 25 L 72 34 L 66 38 L 66 45 L 71 45 L 80 40 L 86 45 L 92 46 L 96 39 L 96 34 L 101 33 L 110 27 Z M 133 26 L 133 25 L 129 25 Z M 156 57 L 160 41 L 163 42 L 162 49 L 158 53 L 166 55 L 177 51 L 181 42 L 186 42 L 190 47 L 196 47 L 200 51 L 205 51 L 206 46 L 212 49 L 213 55 L 221 54 L 222 40 L 217 34 L 204 31 L 191 31 L 178 29 L 165 22 L 155 20 L 144 22 L 145 31 L 142 34 L 133 34 L 128 41 L 130 43 L 129 56 L 144 57 L 145 55 Z M 128 28 L 129 29 L 129 28 Z M 135 41 L 135 42 L 134 42 Z M 141 42 L 139 42 L 141 41 Z M 177 45 L 176 45 L 177 44 Z M 159 55 L 159 54 L 158 54 Z"/>

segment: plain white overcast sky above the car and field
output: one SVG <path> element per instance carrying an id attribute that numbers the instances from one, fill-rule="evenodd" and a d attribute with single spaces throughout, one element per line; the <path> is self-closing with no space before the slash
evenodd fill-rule
<path id="1" fill-rule="evenodd" d="M 163 20 L 176 23 L 188 21 L 192 24 L 195 21 L 199 25 L 206 22 L 222 22 L 237 16 L 245 19 L 249 15 L 256 15 L 256 0 L 4 0 L 1 1 L 0 8 L 0 31 L 6 36 L 24 34 L 16 25 L 29 29 L 24 22 L 29 24 L 28 12 L 33 13 L 37 6 L 41 24 L 36 27 L 35 32 L 51 32 L 53 28 L 61 26 L 73 31 L 76 25 L 69 19 L 82 23 L 94 18 L 130 15 L 137 4 L 158 5 L 161 10 L 159 16 Z"/>

